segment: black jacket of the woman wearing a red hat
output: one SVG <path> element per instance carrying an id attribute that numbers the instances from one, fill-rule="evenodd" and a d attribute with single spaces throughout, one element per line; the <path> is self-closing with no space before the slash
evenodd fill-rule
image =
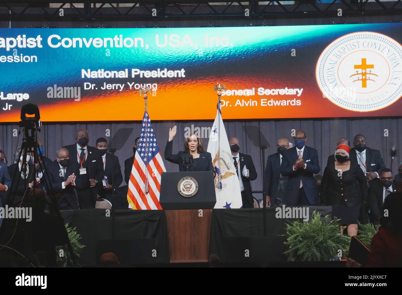
<path id="1" fill-rule="evenodd" d="M 350 169 L 338 176 L 335 161 L 324 169 L 321 180 L 321 194 L 325 205 L 340 205 L 342 200 L 348 207 L 358 203 L 367 204 L 367 181 L 357 163 L 350 164 Z"/>

